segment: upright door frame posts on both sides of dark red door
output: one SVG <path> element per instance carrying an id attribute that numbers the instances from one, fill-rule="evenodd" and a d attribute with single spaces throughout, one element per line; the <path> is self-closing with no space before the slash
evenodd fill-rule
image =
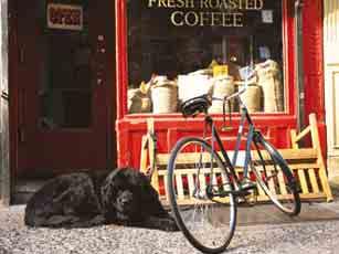
<path id="1" fill-rule="evenodd" d="M 106 99 L 107 99 L 107 162 L 106 167 L 116 167 L 116 131 L 115 131 L 115 119 L 116 119 L 116 78 L 115 78 L 115 1 L 107 1 L 109 8 L 105 8 L 105 13 L 100 17 L 106 17 L 107 25 L 103 28 L 98 33 L 106 34 Z M 1 203 L 9 205 L 11 193 L 13 193 L 13 188 L 15 186 L 17 172 L 18 172 L 18 146 L 19 146 L 19 102 L 18 102 L 18 66 L 19 66 L 19 51 L 18 51 L 18 14 L 15 8 L 15 1 L 1 1 L 1 21 L 2 25 L 1 42 L 2 49 L 8 49 L 8 52 L 1 51 L 2 64 L 8 61 L 8 65 L 2 65 L 3 75 L 8 74 L 8 78 L 2 78 L 4 82 L 0 82 L 0 87 L 2 91 L 9 91 L 9 99 L 0 100 L 1 106 L 7 102 L 8 110 L 0 109 L 1 125 L 0 130 L 0 151 L 1 151 L 1 171 L 0 171 L 0 205 Z M 6 22 L 8 21 L 8 22 Z M 8 32 L 7 32 L 8 31 Z M 8 45 L 8 47 L 7 47 Z M 7 83 L 6 83 L 7 82 Z M 10 103 L 9 103 L 10 102 Z M 4 183 L 4 184 L 2 184 Z"/>

